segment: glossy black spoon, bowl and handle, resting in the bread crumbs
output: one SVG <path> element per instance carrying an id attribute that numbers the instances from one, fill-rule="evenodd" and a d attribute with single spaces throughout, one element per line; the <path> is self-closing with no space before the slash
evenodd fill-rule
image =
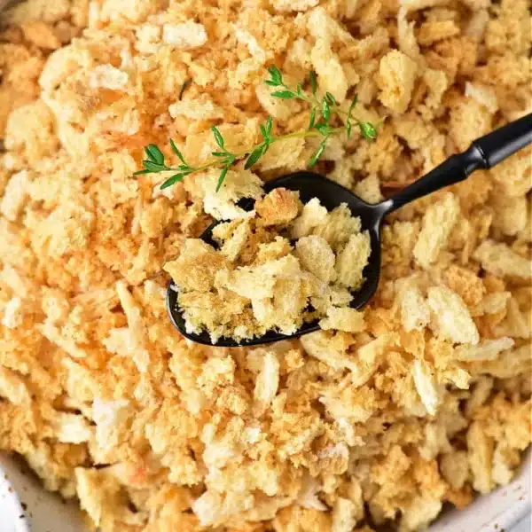
<path id="1" fill-rule="evenodd" d="M 440 166 L 426 174 L 426 176 L 407 186 L 402 192 L 395 194 L 394 197 L 388 200 L 381 201 L 377 205 L 366 203 L 347 188 L 327 179 L 325 176 L 312 172 L 296 172 L 289 176 L 279 177 L 265 184 L 264 190 L 270 192 L 274 188 L 284 187 L 292 191 L 299 191 L 300 199 L 303 203 L 312 198 L 317 198 L 327 210 L 338 207 L 340 203 L 347 203 L 353 215 L 360 216 L 362 228 L 369 231 L 372 245 L 369 262 L 364 269 L 366 281 L 358 292 L 353 293 L 353 301 L 350 305 L 354 309 L 360 309 L 372 298 L 377 286 L 379 286 L 380 227 L 387 215 L 403 207 L 406 203 L 426 196 L 426 194 L 463 181 L 474 170 L 491 168 L 501 160 L 505 160 L 512 153 L 531 143 L 532 114 L 528 114 L 475 140 L 464 153 L 451 156 L 448 160 L 442 162 Z M 217 244 L 212 239 L 212 230 L 217 223 L 220 222 L 211 224 L 200 237 L 207 244 L 215 247 L 217 247 Z M 239 343 L 231 338 L 223 337 L 213 344 L 208 332 L 195 334 L 186 331 L 183 313 L 177 306 L 177 289 L 173 281 L 168 285 L 167 307 L 172 324 L 184 337 L 201 344 L 215 345 L 216 347 L 255 346 L 294 338 L 319 329 L 317 321 L 315 321 L 302 325 L 301 329 L 290 336 L 270 331 L 263 336 L 251 340 L 242 340 Z"/>

